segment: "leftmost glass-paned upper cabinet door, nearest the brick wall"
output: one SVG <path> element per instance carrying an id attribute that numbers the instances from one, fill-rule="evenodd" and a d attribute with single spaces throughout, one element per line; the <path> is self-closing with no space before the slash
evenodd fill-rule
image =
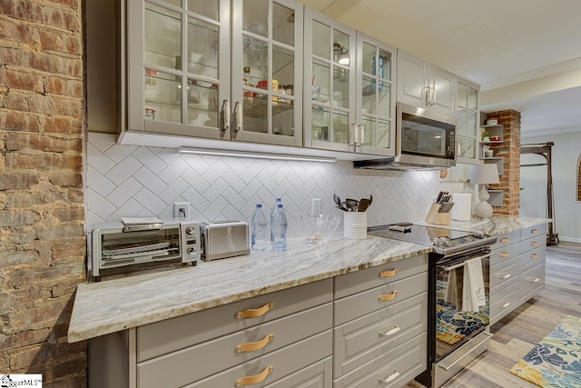
<path id="1" fill-rule="evenodd" d="M 230 139 L 230 1 L 129 0 L 128 129 Z"/>

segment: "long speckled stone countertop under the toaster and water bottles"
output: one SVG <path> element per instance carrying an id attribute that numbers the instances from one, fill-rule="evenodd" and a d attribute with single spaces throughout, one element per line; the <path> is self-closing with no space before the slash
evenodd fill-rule
<path id="1" fill-rule="evenodd" d="M 430 247 L 380 237 L 327 244 L 291 240 L 285 253 L 260 252 L 100 283 L 79 284 L 68 341 L 240 301 L 364 268 L 428 254 Z"/>

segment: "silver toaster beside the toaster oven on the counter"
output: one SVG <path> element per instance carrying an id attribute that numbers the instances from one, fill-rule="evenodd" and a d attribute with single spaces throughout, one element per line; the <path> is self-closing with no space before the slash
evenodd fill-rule
<path id="1" fill-rule="evenodd" d="M 204 262 L 251 254 L 248 224 L 243 221 L 200 223 L 200 241 Z"/>

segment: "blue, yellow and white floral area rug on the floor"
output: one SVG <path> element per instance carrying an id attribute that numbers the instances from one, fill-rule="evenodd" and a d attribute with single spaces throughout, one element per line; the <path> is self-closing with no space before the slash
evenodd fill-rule
<path id="1" fill-rule="evenodd" d="M 581 387 L 581 318 L 567 316 L 510 373 L 539 387 Z"/>

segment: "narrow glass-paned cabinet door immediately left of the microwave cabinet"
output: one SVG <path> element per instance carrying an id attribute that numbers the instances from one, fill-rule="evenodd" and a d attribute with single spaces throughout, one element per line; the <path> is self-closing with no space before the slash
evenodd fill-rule
<path id="1" fill-rule="evenodd" d="M 396 48 L 357 33 L 356 151 L 395 155 Z"/>

